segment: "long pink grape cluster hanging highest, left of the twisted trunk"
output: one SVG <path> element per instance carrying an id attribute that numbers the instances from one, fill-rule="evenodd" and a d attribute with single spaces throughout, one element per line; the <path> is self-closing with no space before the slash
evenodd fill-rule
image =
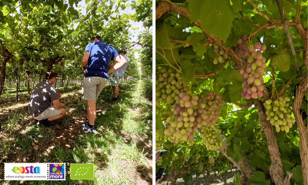
<path id="1" fill-rule="evenodd" d="M 261 43 L 255 43 L 250 46 L 249 43 L 244 43 L 247 36 L 243 35 L 237 40 L 239 46 L 234 47 L 237 51 L 237 56 L 242 57 L 242 63 L 245 64 L 244 68 L 238 71 L 244 79 L 243 81 L 243 92 L 241 96 L 246 99 L 263 97 L 263 77 L 262 75 L 266 71 L 266 60 L 262 55 L 262 51 L 265 51 L 266 46 Z"/>

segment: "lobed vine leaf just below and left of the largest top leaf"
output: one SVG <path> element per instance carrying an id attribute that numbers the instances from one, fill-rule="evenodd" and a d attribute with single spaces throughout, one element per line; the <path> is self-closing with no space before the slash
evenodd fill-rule
<path id="1" fill-rule="evenodd" d="M 195 51 L 197 55 L 202 56 L 206 52 L 206 48 L 207 48 L 207 46 L 203 45 L 203 43 L 200 42 L 204 38 L 205 38 L 204 34 L 193 32 L 192 35 L 189 35 L 187 37 L 183 45 L 184 47 L 193 45 L 193 51 Z"/>

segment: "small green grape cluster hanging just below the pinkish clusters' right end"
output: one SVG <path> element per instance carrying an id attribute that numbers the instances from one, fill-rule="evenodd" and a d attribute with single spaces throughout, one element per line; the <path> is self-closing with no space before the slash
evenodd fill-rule
<path id="1" fill-rule="evenodd" d="M 213 123 L 210 126 L 206 125 L 201 130 L 202 134 L 200 137 L 207 150 L 217 150 L 222 146 L 223 141 L 217 137 L 219 132 L 221 132 L 219 126 L 215 126 Z"/>

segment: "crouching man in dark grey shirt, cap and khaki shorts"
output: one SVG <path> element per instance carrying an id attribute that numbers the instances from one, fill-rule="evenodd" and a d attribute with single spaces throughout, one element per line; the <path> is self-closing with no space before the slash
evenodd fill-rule
<path id="1" fill-rule="evenodd" d="M 38 83 L 30 97 L 28 109 L 30 114 L 38 121 L 37 125 L 51 126 L 50 121 L 62 118 L 66 110 L 64 103 L 60 103 L 60 93 L 57 93 L 52 84 L 55 83 L 56 77 L 54 72 L 47 72 L 46 79 Z M 53 105 L 51 105 L 51 102 Z"/>

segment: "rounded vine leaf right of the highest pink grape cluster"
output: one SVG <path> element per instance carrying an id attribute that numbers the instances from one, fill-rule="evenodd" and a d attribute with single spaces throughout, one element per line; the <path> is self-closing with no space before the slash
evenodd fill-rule
<path id="1" fill-rule="evenodd" d="M 270 64 L 278 70 L 286 72 L 290 68 L 290 58 L 291 55 L 285 54 L 288 51 L 278 51 L 278 54 L 275 54 Z M 284 54 L 284 55 L 281 55 Z"/>

